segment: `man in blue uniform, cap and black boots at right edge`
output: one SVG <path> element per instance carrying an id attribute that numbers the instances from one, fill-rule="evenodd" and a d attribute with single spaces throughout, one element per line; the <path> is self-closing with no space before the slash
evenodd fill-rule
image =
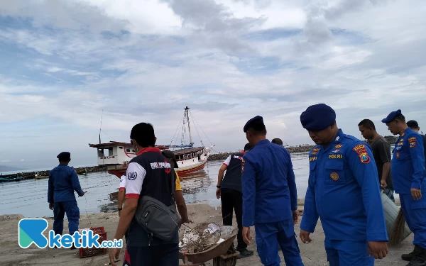
<path id="1" fill-rule="evenodd" d="M 410 266 L 426 265 L 426 193 L 425 155 L 422 136 L 405 123 L 401 110 L 383 118 L 393 135 L 400 135 L 393 149 L 391 172 L 395 193 L 399 194 L 401 208 L 408 227 L 414 233 L 414 251 L 403 254 Z"/>

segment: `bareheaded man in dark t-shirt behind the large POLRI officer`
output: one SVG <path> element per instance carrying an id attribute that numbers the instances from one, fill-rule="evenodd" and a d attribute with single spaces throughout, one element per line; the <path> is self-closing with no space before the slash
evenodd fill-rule
<path id="1" fill-rule="evenodd" d="M 367 143 L 370 145 L 371 150 L 373 150 L 373 157 L 378 172 L 378 182 L 381 184 L 381 189 L 388 195 L 389 199 L 395 202 L 395 198 L 393 197 L 395 190 L 393 189 L 391 176 L 391 145 L 386 138 L 378 135 L 373 121 L 364 119 L 359 122 L 358 127 L 362 136 L 368 140 Z"/>

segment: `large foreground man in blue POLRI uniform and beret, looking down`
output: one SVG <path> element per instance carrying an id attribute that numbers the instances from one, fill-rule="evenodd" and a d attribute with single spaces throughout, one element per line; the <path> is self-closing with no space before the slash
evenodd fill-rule
<path id="1" fill-rule="evenodd" d="M 300 239 L 311 241 L 320 217 L 330 266 L 374 265 L 374 258 L 388 254 L 388 234 L 370 148 L 337 128 L 326 104 L 308 107 L 300 122 L 317 144 L 309 153 Z"/>

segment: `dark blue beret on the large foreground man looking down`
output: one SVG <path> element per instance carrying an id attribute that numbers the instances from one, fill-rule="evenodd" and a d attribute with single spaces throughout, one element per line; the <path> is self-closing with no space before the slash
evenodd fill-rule
<path id="1" fill-rule="evenodd" d="M 300 123 L 307 131 L 322 131 L 336 121 L 336 112 L 327 104 L 309 106 L 300 115 Z"/>

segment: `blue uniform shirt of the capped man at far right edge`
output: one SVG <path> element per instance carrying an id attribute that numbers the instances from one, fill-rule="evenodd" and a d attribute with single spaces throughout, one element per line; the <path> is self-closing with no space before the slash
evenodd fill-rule
<path id="1" fill-rule="evenodd" d="M 405 129 L 395 143 L 391 162 L 393 187 L 398 194 L 411 194 L 420 189 L 425 178 L 425 153 L 422 136 Z"/>

